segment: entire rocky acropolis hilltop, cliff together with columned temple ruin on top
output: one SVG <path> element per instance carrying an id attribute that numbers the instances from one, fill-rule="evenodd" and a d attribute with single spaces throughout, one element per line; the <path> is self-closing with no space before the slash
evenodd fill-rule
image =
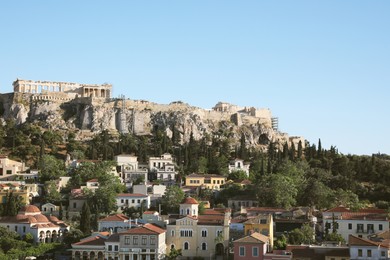
<path id="1" fill-rule="evenodd" d="M 103 130 L 149 135 L 156 127 L 165 129 L 170 136 L 175 127 L 184 142 L 191 135 L 198 139 L 222 128 L 233 131 L 235 140 L 245 134 L 248 145 L 304 142 L 302 137 L 280 132 L 278 118 L 272 116 L 269 108 L 241 107 L 228 102 L 218 102 L 212 109 L 182 101 L 157 104 L 123 95 L 113 98 L 112 88 L 107 83 L 16 79 L 13 93 L 0 94 L 2 119 L 13 117 L 17 124 L 27 120 L 40 122 L 47 128 L 73 131 L 81 139 Z"/>

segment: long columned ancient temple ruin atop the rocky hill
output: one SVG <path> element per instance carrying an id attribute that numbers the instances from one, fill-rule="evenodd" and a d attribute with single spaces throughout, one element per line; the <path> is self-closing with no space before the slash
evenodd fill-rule
<path id="1" fill-rule="evenodd" d="M 16 79 L 13 82 L 14 92 L 50 95 L 65 93 L 69 98 L 92 97 L 111 98 L 111 84 L 80 84 L 72 82 L 33 81 Z"/>

